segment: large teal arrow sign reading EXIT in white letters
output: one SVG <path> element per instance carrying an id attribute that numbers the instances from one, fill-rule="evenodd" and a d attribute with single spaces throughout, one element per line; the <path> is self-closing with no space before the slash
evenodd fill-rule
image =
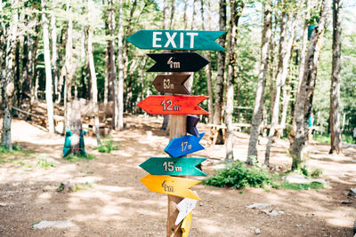
<path id="1" fill-rule="evenodd" d="M 126 40 L 146 50 L 225 51 L 215 40 L 226 31 L 140 30 Z"/>

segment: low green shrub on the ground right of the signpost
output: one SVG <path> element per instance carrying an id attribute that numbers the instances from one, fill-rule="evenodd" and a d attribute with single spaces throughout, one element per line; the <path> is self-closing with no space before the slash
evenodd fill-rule
<path id="1" fill-rule="evenodd" d="M 232 162 L 223 170 L 215 170 L 216 174 L 203 181 L 208 186 L 232 187 L 236 189 L 248 186 L 272 185 L 274 176 L 269 170 L 253 166 L 247 168 L 244 162 Z"/>

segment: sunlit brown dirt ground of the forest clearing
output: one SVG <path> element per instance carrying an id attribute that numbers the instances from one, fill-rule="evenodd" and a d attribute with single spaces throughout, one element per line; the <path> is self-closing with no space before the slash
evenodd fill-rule
<path id="1" fill-rule="evenodd" d="M 85 150 L 96 159 L 69 162 L 61 157 L 63 137 L 14 120 L 12 140 L 35 153 L 0 162 L 0 236 L 165 236 L 167 197 L 150 192 L 139 180 L 147 175 L 139 164 L 165 154 L 168 138 L 159 130 L 162 120 L 142 115 L 126 117 L 125 122 L 128 129 L 112 134 L 119 142 L 117 151 L 101 154 L 93 150 L 95 139 L 85 137 Z M 199 124 L 198 130 L 205 128 Z M 237 159 L 246 160 L 247 144 L 248 135 L 238 133 L 234 141 Z M 213 174 L 223 166 L 224 146 L 208 145 L 206 136 L 202 145 L 206 149 L 194 156 L 210 158 L 202 169 Z M 287 146 L 287 141 L 279 140 L 272 147 L 272 165 L 288 169 Z M 260 159 L 264 147 L 258 147 Z M 308 165 L 323 171 L 327 188 L 247 188 L 241 192 L 194 186 L 202 201 L 193 210 L 190 236 L 255 236 L 256 228 L 261 230 L 259 236 L 352 236 L 356 199 L 347 194 L 356 186 L 356 149 L 344 148 L 343 154 L 332 155 L 328 145 L 313 143 L 308 153 Z M 53 162 L 54 167 L 34 165 L 38 159 Z M 86 183 L 87 188 L 56 192 L 62 181 Z M 247 209 L 255 202 L 271 203 L 269 209 L 282 214 L 271 217 L 259 209 Z M 41 220 L 71 220 L 76 226 L 34 230 L 32 225 Z"/>

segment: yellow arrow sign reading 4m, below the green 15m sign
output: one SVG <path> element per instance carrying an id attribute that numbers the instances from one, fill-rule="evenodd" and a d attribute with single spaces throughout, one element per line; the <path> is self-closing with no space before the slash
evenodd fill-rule
<path id="1" fill-rule="evenodd" d="M 147 175 L 144 178 L 141 178 L 140 181 L 152 192 L 186 197 L 200 201 L 198 195 L 190 190 L 190 187 L 197 185 L 200 181 L 166 175 Z"/>

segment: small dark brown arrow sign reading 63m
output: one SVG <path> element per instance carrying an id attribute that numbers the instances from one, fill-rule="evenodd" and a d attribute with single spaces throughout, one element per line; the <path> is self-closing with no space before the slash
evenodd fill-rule
<path id="1" fill-rule="evenodd" d="M 158 75 L 153 86 L 158 92 L 190 95 L 190 91 L 184 86 L 188 78 L 190 75 Z"/>

